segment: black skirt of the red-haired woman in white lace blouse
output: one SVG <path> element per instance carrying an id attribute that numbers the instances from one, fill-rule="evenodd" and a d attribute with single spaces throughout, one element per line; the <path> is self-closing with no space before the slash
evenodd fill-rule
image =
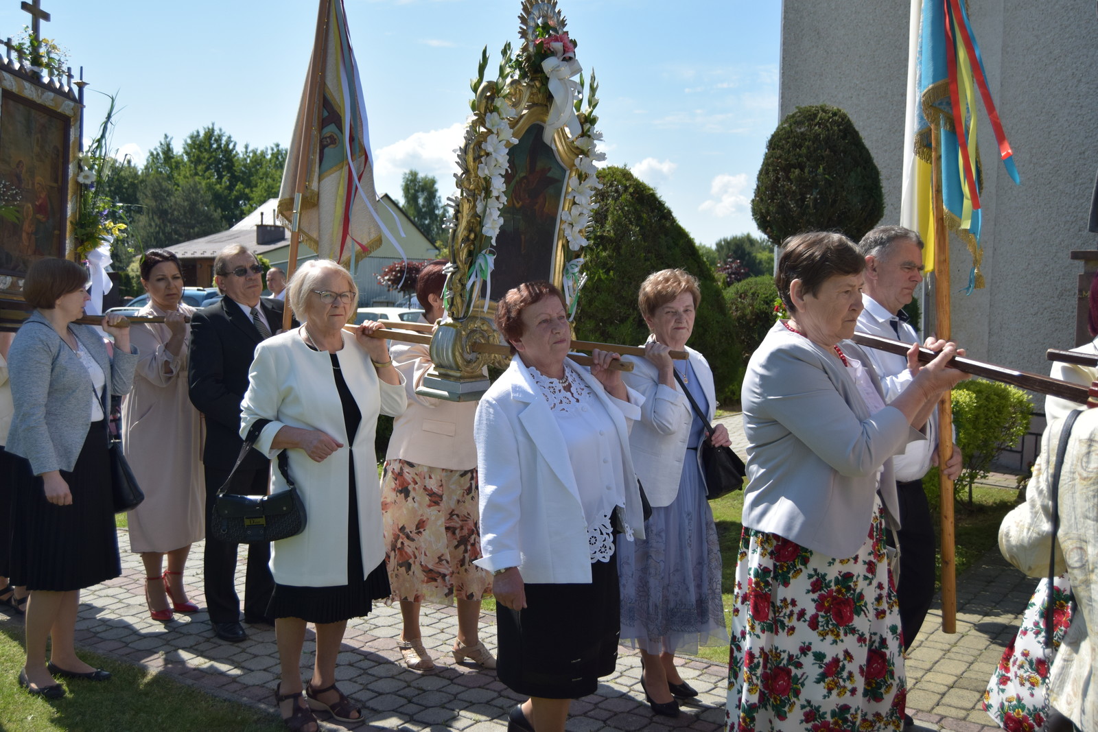
<path id="1" fill-rule="evenodd" d="M 592 562 L 591 584 L 526 584 L 526 608 L 496 605 L 498 679 L 544 699 L 594 694 L 614 673 L 620 633 L 617 558 Z"/>

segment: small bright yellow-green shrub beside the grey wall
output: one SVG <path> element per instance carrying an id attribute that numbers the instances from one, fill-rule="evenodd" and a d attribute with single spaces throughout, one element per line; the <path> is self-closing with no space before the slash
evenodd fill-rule
<path id="1" fill-rule="evenodd" d="M 1022 439 L 1029 429 L 1033 405 L 1017 386 L 983 379 L 961 382 L 952 396 L 957 447 L 964 458 L 964 470 L 954 488 L 967 489 L 972 506 L 973 483 L 990 474 L 991 463 L 1000 451 Z"/>

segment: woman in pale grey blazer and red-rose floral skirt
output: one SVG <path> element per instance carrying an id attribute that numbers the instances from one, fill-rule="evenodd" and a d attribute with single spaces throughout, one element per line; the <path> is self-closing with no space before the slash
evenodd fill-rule
<path id="1" fill-rule="evenodd" d="M 964 378 L 953 344 L 885 405 L 847 339 L 865 259 L 841 234 L 785 241 L 777 291 L 789 314 L 743 380 L 748 486 L 736 566 L 728 723 L 733 730 L 895 729 L 904 723 L 899 611 L 884 533 L 895 526 L 892 457 Z M 963 353 L 963 351 L 961 351 Z"/>

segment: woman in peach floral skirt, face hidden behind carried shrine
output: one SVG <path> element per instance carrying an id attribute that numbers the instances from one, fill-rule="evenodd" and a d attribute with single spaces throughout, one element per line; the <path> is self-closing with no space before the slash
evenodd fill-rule
<path id="1" fill-rule="evenodd" d="M 445 317 L 445 259 L 426 264 L 416 281 L 425 323 Z M 426 346 L 394 342 L 393 363 L 404 374 L 408 408 L 393 423 L 385 452 L 381 509 L 384 515 L 389 584 L 400 600 L 404 627 L 396 642 L 412 671 L 430 671 L 435 662 L 423 645 L 419 604 L 458 605 L 453 661 L 469 658 L 495 668 L 480 641 L 481 599 L 491 593 L 492 576 L 475 566 L 479 559 L 477 402 L 445 402 L 416 394 L 430 370 Z"/>

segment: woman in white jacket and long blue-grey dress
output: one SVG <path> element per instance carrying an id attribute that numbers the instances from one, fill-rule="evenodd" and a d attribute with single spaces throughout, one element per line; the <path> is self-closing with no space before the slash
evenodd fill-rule
<path id="1" fill-rule="evenodd" d="M 640 285 L 638 305 L 652 335 L 645 358 L 630 359 L 634 370 L 623 375 L 645 397 L 629 447 L 652 516 L 643 540 L 618 541 L 621 639 L 640 649 L 641 688 L 652 711 L 666 717 L 679 714 L 676 698 L 697 696 L 679 674 L 675 653 L 693 655 L 699 644 L 728 642 L 720 543 L 698 455 L 707 436 L 684 393 L 713 419 L 713 371 L 686 346 L 701 297 L 697 280 L 683 270 L 650 274 Z M 690 358 L 673 361 L 672 350 L 685 350 Z M 712 439 L 730 443 L 724 425 L 714 428 Z"/>

